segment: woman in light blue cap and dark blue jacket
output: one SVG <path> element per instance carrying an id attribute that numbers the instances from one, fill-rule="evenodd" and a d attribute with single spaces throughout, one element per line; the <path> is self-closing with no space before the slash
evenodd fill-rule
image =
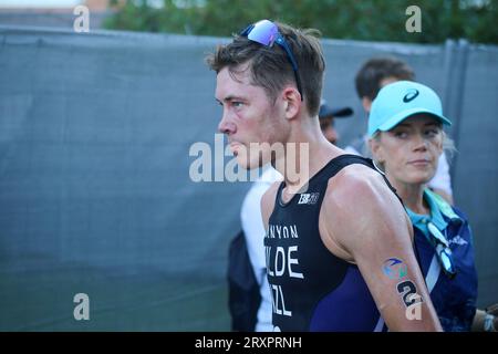
<path id="1" fill-rule="evenodd" d="M 383 87 L 373 102 L 369 143 L 412 220 L 415 250 L 440 324 L 445 331 L 469 331 L 477 299 L 470 228 L 461 211 L 427 188 L 446 139 L 443 125 L 450 124 L 433 90 L 400 81 Z M 491 331 L 495 323 L 485 314 L 484 329 Z"/>

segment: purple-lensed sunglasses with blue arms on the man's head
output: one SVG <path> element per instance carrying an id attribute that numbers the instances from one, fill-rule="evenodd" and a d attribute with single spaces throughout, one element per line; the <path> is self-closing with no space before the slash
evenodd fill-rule
<path id="1" fill-rule="evenodd" d="M 286 41 L 283 35 L 279 32 L 279 28 L 277 24 L 269 20 L 261 20 L 256 23 L 248 25 L 245 30 L 240 32 L 241 37 L 246 37 L 248 40 L 252 42 L 257 42 L 264 46 L 272 46 L 273 43 L 280 45 L 287 53 L 287 58 L 289 59 L 290 64 L 292 65 L 292 70 L 294 72 L 295 83 L 298 85 L 298 91 L 301 94 L 301 101 L 303 100 L 302 88 L 301 88 L 301 80 L 299 79 L 298 72 L 298 62 L 295 61 L 294 55 L 289 46 L 289 43 Z"/>

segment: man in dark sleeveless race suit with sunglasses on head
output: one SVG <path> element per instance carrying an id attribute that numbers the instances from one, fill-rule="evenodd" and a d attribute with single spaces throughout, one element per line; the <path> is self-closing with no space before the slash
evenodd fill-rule
<path id="1" fill-rule="evenodd" d="M 325 63 L 313 34 L 262 20 L 207 59 L 238 164 L 270 162 L 284 178 L 261 200 L 274 330 L 439 331 L 402 204 L 370 160 L 320 131 Z"/>

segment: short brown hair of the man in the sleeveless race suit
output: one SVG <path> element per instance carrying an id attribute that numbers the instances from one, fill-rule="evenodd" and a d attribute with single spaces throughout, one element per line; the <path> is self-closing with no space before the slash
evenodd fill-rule
<path id="1" fill-rule="evenodd" d="M 301 94 L 308 112 L 314 116 L 320 108 L 325 71 L 325 60 L 318 39 L 320 32 L 274 23 L 294 54 L 302 83 Z M 218 45 L 216 52 L 206 58 L 206 62 L 217 73 L 227 66 L 230 73 L 235 73 L 237 66 L 248 63 L 252 83 L 263 87 L 273 101 L 286 84 L 295 83 L 292 65 L 280 45 L 264 46 L 238 34 L 234 34 L 231 43 Z"/>

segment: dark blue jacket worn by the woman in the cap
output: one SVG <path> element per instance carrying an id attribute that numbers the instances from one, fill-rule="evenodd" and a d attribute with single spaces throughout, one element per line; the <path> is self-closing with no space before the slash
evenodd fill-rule
<path id="1" fill-rule="evenodd" d="M 427 189 L 424 198 L 430 206 L 430 217 L 426 216 L 424 220 L 423 216 L 411 210 L 408 215 L 414 225 L 415 248 L 430 300 L 445 331 L 470 331 L 477 300 L 477 272 L 470 227 L 464 214 L 450 207 L 438 195 Z M 426 236 L 427 229 L 424 230 L 426 221 L 432 221 L 449 242 L 457 271 L 453 279 L 440 269 L 434 246 Z"/>

